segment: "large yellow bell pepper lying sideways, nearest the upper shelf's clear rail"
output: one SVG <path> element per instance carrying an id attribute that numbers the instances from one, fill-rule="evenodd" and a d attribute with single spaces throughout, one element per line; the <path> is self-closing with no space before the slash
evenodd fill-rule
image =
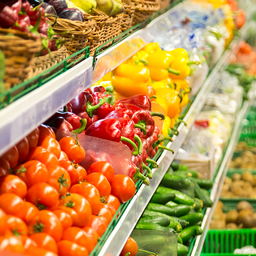
<path id="1" fill-rule="evenodd" d="M 147 95 L 148 68 L 138 65 L 120 64 L 112 73 L 112 85 L 120 95 L 124 97 L 131 97 L 136 94 Z"/>

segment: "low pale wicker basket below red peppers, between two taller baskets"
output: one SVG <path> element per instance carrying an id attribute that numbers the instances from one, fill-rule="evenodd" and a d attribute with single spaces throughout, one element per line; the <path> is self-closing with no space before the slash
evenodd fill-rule
<path id="1" fill-rule="evenodd" d="M 37 76 L 41 74 L 43 71 L 51 68 L 52 66 L 59 63 L 61 60 L 66 59 L 69 56 L 68 50 L 66 46 L 62 46 L 57 51 L 51 52 L 50 54 L 47 54 L 45 56 L 36 57 L 33 60 L 31 60 L 31 72 L 28 75 L 28 79 Z M 64 65 L 64 64 L 63 64 Z M 62 66 L 59 66 L 58 69 L 54 69 L 53 72 L 56 72 L 63 68 Z M 47 74 L 49 76 L 50 74 Z"/>

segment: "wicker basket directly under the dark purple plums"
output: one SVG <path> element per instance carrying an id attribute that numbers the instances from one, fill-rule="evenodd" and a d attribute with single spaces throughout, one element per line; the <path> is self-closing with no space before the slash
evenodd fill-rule
<path id="1" fill-rule="evenodd" d="M 51 23 L 55 22 L 55 18 L 49 17 Z M 68 54 L 73 54 L 86 46 L 88 42 L 88 35 L 92 34 L 97 28 L 96 21 L 87 19 L 82 21 L 73 21 L 66 19 L 57 19 L 56 24 L 53 26 L 53 30 L 57 33 L 69 31 L 66 34 L 61 35 L 64 38 L 70 38 L 70 41 L 65 43 L 68 49 Z M 81 57 L 76 56 L 77 58 Z"/>

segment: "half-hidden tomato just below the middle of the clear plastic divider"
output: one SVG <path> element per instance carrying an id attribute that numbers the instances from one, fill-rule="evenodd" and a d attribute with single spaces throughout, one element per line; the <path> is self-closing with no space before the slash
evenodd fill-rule
<path id="1" fill-rule="evenodd" d="M 106 161 L 98 161 L 91 164 L 87 174 L 91 174 L 93 172 L 100 172 L 103 174 L 110 184 L 112 183 L 115 176 L 113 166 Z"/>

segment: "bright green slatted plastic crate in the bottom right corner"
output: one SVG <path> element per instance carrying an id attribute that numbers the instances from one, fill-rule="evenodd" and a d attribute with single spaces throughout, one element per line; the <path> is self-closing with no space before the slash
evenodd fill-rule
<path id="1" fill-rule="evenodd" d="M 207 232 L 201 256 L 235 255 L 236 248 L 246 245 L 256 247 L 256 229 L 212 229 Z"/>

